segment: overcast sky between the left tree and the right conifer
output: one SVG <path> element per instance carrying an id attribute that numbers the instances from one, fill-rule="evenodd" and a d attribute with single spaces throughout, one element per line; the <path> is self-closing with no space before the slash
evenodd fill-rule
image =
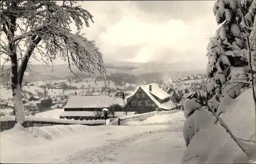
<path id="1" fill-rule="evenodd" d="M 86 1 L 94 16 L 89 40 L 95 40 L 106 63 L 196 62 L 206 67 L 208 37 L 217 29 L 215 1 Z M 33 61 L 34 64 L 42 62 Z M 54 64 L 63 64 L 56 60 Z"/>

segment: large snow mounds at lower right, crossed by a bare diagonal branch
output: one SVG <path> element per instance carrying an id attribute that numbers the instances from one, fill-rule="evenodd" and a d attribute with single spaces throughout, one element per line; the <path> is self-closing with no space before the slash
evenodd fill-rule
<path id="1" fill-rule="evenodd" d="M 224 99 L 221 103 L 225 103 Z M 239 97 L 232 102 L 229 100 L 226 104 L 228 105 L 226 105 L 222 119 L 234 136 L 243 140 L 255 141 L 255 110 L 252 89 L 245 90 Z M 256 150 L 256 144 L 244 143 L 248 145 L 247 148 L 250 148 L 250 151 Z M 220 124 L 212 124 L 209 128 L 199 130 L 194 135 L 184 152 L 182 163 L 247 163 L 248 160 L 250 159 L 230 138 L 226 130 Z"/>

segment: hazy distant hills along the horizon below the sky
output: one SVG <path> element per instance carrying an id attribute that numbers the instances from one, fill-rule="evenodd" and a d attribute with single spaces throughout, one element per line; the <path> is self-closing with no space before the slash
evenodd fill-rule
<path id="1" fill-rule="evenodd" d="M 198 68 L 198 64 L 194 63 L 166 63 L 166 62 L 148 62 L 148 63 L 131 63 L 131 62 L 115 62 L 105 63 L 107 73 L 129 73 L 129 74 L 148 74 L 159 72 L 164 77 L 174 77 L 180 75 L 188 75 L 192 73 L 204 73 L 205 70 L 195 70 Z M 6 65 L 4 68 L 9 68 L 10 65 Z M 194 68 L 194 69 L 192 69 Z M 72 70 L 80 77 L 88 77 L 89 74 L 81 72 L 77 68 L 73 67 Z M 1 70 L 0 70 L 1 72 Z M 26 70 L 26 77 L 32 78 L 31 80 L 54 80 L 54 79 L 68 79 L 73 78 L 73 75 L 68 69 L 67 64 L 47 66 L 47 65 L 31 65 Z M 27 79 L 27 78 L 26 78 Z M 30 81 L 30 80 L 29 80 Z"/>

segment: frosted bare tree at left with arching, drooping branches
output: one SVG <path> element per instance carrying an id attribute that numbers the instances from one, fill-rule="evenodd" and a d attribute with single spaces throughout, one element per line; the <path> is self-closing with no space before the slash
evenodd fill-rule
<path id="1" fill-rule="evenodd" d="M 25 121 L 20 90 L 30 58 L 48 63 L 59 57 L 67 61 L 71 72 L 74 65 L 91 74 L 105 73 L 102 54 L 94 41 L 80 34 L 90 20 L 93 22 L 93 16 L 76 1 L 1 1 L 0 8 L 1 56 L 11 62 L 11 68 L 3 74 L 11 71 L 18 123 Z M 72 25 L 78 33 L 72 33 Z"/>

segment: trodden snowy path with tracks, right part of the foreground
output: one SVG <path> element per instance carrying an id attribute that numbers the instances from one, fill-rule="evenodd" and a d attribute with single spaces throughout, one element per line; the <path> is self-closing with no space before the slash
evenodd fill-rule
<path id="1" fill-rule="evenodd" d="M 177 115 L 176 115 L 177 116 Z M 167 115 L 163 117 L 172 117 Z M 152 120 L 153 118 L 151 118 Z M 172 121 L 172 123 L 170 122 Z M 144 126 L 144 122 L 137 125 Z M 177 124 L 178 123 L 178 124 Z M 108 144 L 82 150 L 53 163 L 179 163 L 185 150 L 181 118 L 168 120 L 167 128 L 109 140 Z M 134 123 L 133 123 L 134 124 Z M 150 123 L 152 124 L 152 123 Z M 161 122 L 164 124 L 164 122 Z M 140 126 L 140 127 L 141 127 Z M 155 126 L 161 125 L 149 125 Z M 147 126 L 148 127 L 148 126 Z M 110 134 L 111 135 L 111 134 Z"/>

